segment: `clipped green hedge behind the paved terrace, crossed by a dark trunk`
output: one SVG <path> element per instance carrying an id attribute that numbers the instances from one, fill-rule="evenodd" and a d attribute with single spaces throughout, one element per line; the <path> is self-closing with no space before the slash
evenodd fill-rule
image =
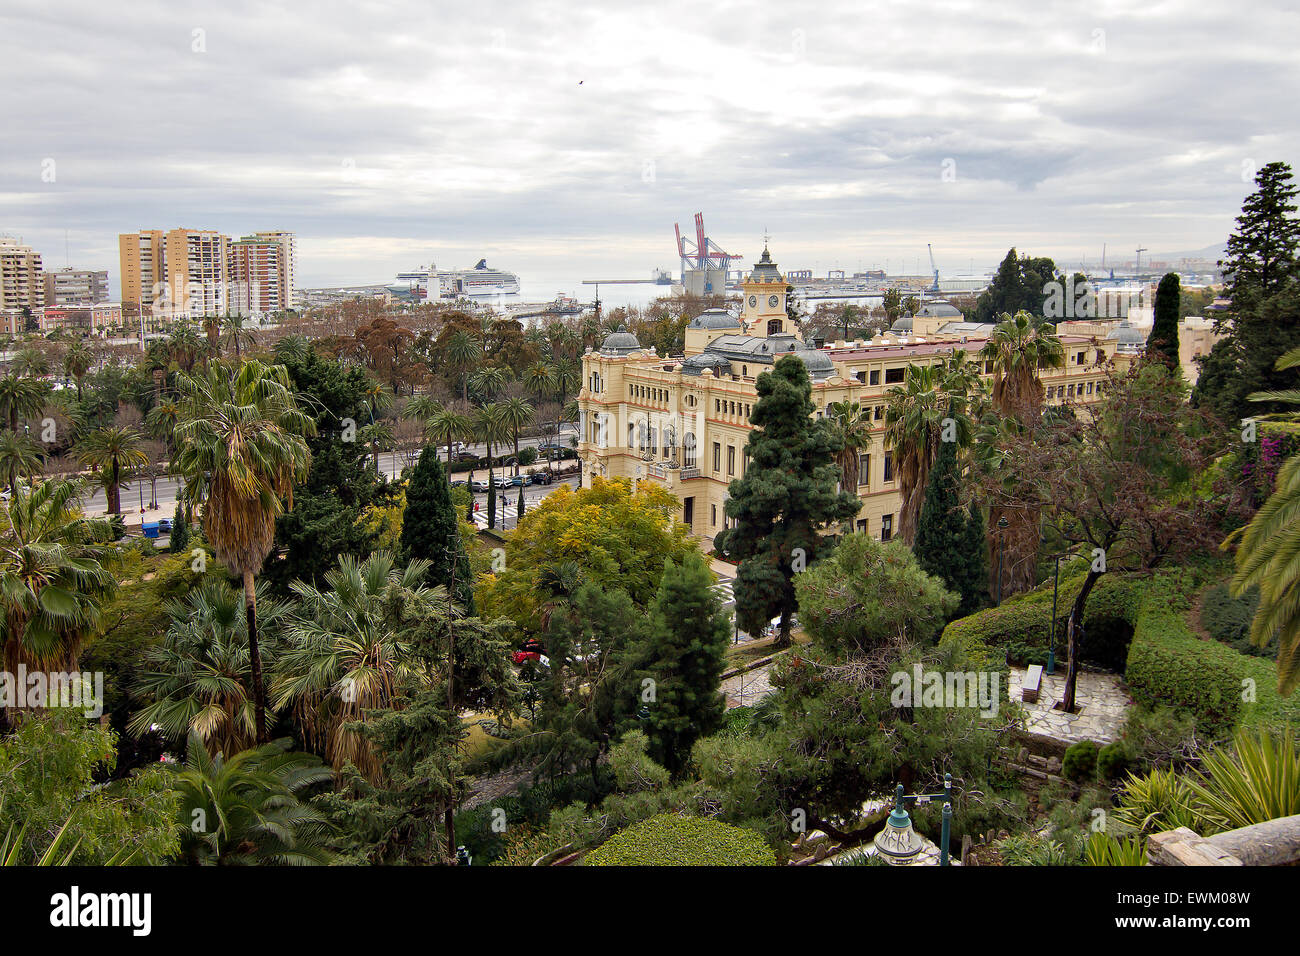
<path id="1" fill-rule="evenodd" d="M 1057 659 L 1065 657 L 1065 627 L 1070 606 L 1083 587 L 1082 571 L 1061 578 L 1057 597 Z M 1145 579 L 1134 575 L 1105 575 L 1093 587 L 1084 609 L 1084 644 L 1080 659 L 1119 672 L 1124 667 L 1132 637 L 1134 607 Z M 988 607 L 952 622 L 944 628 L 940 644 L 961 644 L 968 653 L 980 654 L 997 648 L 1015 665 L 1041 663 L 1048 659 L 1052 622 L 1052 581 L 1037 589 L 1017 594 L 1000 607 Z"/>

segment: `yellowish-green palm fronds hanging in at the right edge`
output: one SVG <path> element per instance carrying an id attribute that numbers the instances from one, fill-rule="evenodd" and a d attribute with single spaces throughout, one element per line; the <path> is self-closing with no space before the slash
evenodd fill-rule
<path id="1" fill-rule="evenodd" d="M 1277 362 L 1278 371 L 1297 365 L 1300 349 Z M 1248 398 L 1300 405 L 1300 389 L 1253 392 Z M 1232 593 L 1240 597 L 1253 587 L 1260 589 L 1251 640 L 1262 648 L 1277 635 L 1278 692 L 1290 695 L 1300 683 L 1300 455 L 1282 464 L 1273 494 L 1238 535 Z"/>

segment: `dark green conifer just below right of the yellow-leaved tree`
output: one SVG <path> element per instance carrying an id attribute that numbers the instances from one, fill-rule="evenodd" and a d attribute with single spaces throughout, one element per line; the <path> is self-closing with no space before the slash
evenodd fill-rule
<path id="1" fill-rule="evenodd" d="M 714 575 L 703 555 L 688 554 L 680 564 L 664 562 L 663 580 L 650 606 L 650 635 L 641 648 L 636 678 L 654 680 L 642 728 L 650 756 L 672 773 L 690 758 L 696 740 L 722 723 L 725 702 L 719 693 L 723 659 L 731 639 L 731 615 L 712 592 Z"/>

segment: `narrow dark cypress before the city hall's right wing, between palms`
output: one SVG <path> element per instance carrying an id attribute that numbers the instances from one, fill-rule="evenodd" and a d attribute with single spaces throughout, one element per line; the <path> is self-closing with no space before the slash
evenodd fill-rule
<path id="1" fill-rule="evenodd" d="M 916 563 L 961 594 L 958 615 L 976 610 L 988 581 L 985 570 L 984 518 L 967 510 L 958 498 L 957 442 L 940 444 L 939 459 L 926 485 L 920 524 L 913 551 Z"/>

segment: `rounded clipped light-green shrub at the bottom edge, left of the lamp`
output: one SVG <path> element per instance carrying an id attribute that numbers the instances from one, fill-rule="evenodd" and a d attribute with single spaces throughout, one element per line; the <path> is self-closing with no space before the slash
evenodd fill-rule
<path id="1" fill-rule="evenodd" d="M 633 823 L 582 861 L 588 866 L 775 866 L 763 838 L 707 817 L 663 813 Z"/>

